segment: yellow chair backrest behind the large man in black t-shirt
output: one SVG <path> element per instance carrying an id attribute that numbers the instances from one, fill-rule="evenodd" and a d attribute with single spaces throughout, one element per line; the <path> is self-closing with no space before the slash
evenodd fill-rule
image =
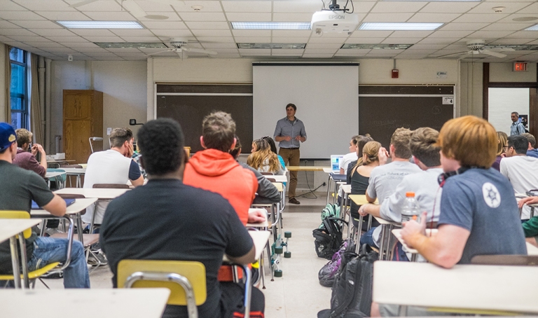
<path id="1" fill-rule="evenodd" d="M 168 305 L 188 305 L 187 295 L 179 284 L 169 279 L 167 275 L 177 274 L 186 278 L 193 288 L 195 305 L 205 303 L 207 297 L 205 284 L 205 266 L 196 261 L 155 261 L 124 259 L 118 263 L 118 288 L 125 288 L 127 279 L 133 274 L 138 275 L 133 288 L 167 288 L 170 289 Z M 147 274 L 147 275 L 146 275 Z M 153 274 L 153 275 L 151 275 Z"/>

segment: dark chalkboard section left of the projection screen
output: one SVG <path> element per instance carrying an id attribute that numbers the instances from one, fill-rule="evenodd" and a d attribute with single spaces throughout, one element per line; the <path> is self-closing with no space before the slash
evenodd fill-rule
<path id="1" fill-rule="evenodd" d="M 252 85 L 157 85 L 157 118 L 177 120 L 191 153 L 202 150 L 202 120 L 214 111 L 230 113 L 243 152 L 252 144 Z M 178 95 L 179 94 L 179 95 Z"/>

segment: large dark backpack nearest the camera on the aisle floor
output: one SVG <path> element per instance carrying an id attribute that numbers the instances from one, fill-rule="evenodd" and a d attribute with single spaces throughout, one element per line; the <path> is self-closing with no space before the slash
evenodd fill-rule
<path id="1" fill-rule="evenodd" d="M 318 318 L 369 317 L 372 305 L 373 262 L 379 254 L 371 251 L 357 256 L 343 254 L 343 266 L 336 275 L 331 309 L 318 312 Z"/>

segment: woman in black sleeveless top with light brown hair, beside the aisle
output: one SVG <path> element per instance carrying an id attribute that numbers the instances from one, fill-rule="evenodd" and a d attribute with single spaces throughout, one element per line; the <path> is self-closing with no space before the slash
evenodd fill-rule
<path id="1" fill-rule="evenodd" d="M 370 180 L 370 173 L 373 168 L 379 165 L 379 149 L 381 144 L 378 141 L 368 141 L 362 148 L 362 155 L 357 164 L 351 170 L 351 194 L 366 194 L 366 188 Z M 358 150 L 357 150 L 358 152 Z M 351 217 L 353 226 L 357 228 L 359 222 L 359 206 L 351 202 Z"/>

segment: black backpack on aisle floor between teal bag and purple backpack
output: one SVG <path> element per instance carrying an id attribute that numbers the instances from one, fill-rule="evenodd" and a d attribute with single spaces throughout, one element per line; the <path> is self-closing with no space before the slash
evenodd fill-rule
<path id="1" fill-rule="evenodd" d="M 323 219 L 322 227 L 312 230 L 312 236 L 315 238 L 314 245 L 318 257 L 331 259 L 342 245 L 342 225 L 339 222 L 346 223 L 343 219 L 326 217 Z"/>

